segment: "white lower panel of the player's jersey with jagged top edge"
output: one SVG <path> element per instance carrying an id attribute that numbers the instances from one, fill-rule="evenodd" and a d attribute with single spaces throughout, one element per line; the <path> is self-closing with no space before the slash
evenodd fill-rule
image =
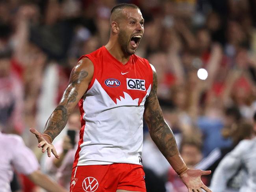
<path id="1" fill-rule="evenodd" d="M 95 79 L 83 101 L 85 129 L 78 165 L 140 164 L 144 105 L 138 106 L 138 101 L 124 92 L 116 104 Z"/>

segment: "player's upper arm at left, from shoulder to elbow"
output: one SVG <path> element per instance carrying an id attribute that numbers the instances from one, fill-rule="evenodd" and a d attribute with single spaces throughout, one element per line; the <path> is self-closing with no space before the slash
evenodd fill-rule
<path id="1" fill-rule="evenodd" d="M 93 70 L 93 63 L 87 57 L 81 59 L 72 69 L 69 84 L 59 102 L 59 105 L 65 106 L 68 112 L 74 109 L 87 91 L 93 77 Z"/>

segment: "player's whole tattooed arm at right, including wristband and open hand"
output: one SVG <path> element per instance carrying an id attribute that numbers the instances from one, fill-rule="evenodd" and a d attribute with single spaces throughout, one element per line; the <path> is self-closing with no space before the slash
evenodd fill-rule
<path id="1" fill-rule="evenodd" d="M 154 66 L 151 65 L 151 67 L 153 71 L 153 86 L 145 102 L 144 111 L 144 119 L 147 122 L 150 137 L 180 176 L 189 192 L 200 191 L 200 188 L 203 188 L 206 192 L 211 192 L 200 179 L 201 175 L 208 175 L 210 171 L 190 170 L 180 156 L 173 131 L 163 118 L 163 113 L 156 95 L 157 74 Z"/>

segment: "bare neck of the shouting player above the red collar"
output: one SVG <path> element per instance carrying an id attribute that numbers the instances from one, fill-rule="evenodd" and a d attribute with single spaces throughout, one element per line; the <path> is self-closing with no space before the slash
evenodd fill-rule
<path id="1" fill-rule="evenodd" d="M 108 52 L 122 64 L 126 64 L 129 61 L 131 55 L 124 54 L 119 43 L 109 41 L 105 47 Z"/>

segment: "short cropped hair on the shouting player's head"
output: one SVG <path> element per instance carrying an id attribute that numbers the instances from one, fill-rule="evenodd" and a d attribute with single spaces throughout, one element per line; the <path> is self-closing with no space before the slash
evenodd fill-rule
<path id="1" fill-rule="evenodd" d="M 111 10 L 110 23 L 113 21 L 117 22 L 119 19 L 123 18 L 124 17 L 123 9 L 127 9 L 127 8 L 139 9 L 139 7 L 134 4 L 126 4 L 126 3 L 119 4 L 113 7 L 113 9 Z"/>

